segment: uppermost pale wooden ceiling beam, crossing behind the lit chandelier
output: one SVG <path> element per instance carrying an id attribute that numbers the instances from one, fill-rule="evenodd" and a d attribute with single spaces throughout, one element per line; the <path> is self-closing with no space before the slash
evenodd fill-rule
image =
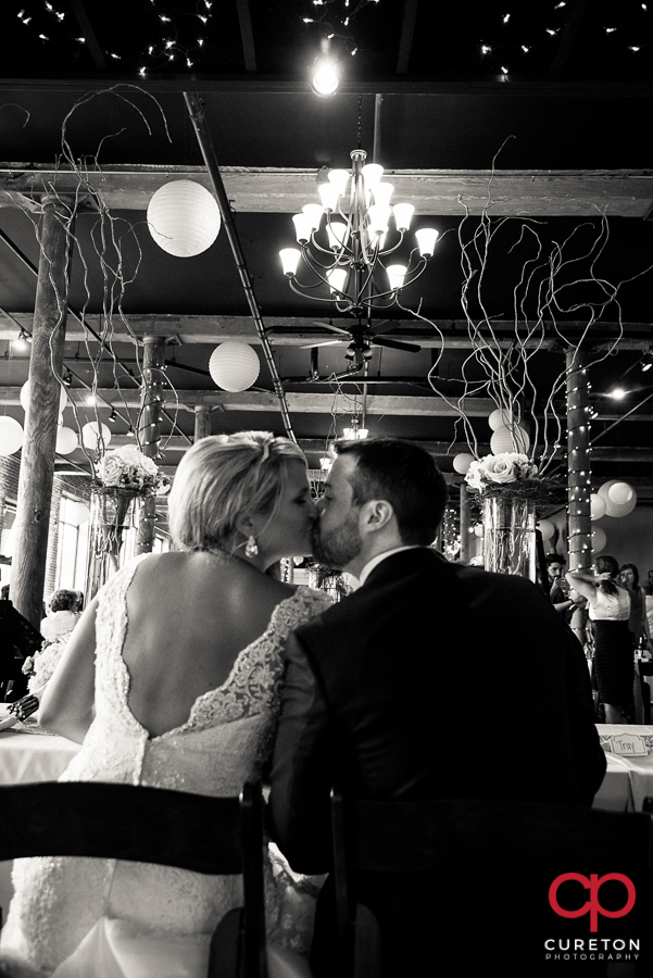
<path id="1" fill-rule="evenodd" d="M 317 170 L 223 166 L 221 173 L 236 212 L 293 214 L 317 200 Z M 641 217 L 653 206 L 653 170 L 389 170 L 397 199 L 417 214 L 479 215 L 492 184 L 492 214 L 515 217 Z M 187 177 L 211 190 L 202 166 L 111 166 L 88 178 L 110 210 L 146 211 L 155 190 Z M 0 164 L 0 206 L 25 206 L 47 188 L 75 192 L 78 178 L 49 164 Z"/>

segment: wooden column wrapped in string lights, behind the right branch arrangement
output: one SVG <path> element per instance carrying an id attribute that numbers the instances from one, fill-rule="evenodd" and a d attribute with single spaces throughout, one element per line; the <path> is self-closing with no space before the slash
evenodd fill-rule
<path id="1" fill-rule="evenodd" d="M 581 349 L 567 352 L 567 500 L 569 570 L 592 566 L 590 394 Z"/>

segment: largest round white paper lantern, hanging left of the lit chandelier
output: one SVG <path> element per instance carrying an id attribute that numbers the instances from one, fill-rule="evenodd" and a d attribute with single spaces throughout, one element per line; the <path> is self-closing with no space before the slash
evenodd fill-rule
<path id="1" fill-rule="evenodd" d="M 217 238 L 219 225 L 215 198 L 192 180 L 164 184 L 148 204 L 150 234 L 176 258 L 192 258 L 206 251 Z"/>

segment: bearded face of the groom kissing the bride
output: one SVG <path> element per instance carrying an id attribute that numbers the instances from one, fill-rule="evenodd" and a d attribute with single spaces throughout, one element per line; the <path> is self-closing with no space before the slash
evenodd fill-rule
<path id="1" fill-rule="evenodd" d="M 353 504 L 349 475 L 356 463 L 348 455 L 336 459 L 317 503 L 319 521 L 313 528 L 313 554 L 322 564 L 342 570 L 363 547 L 359 532 L 360 506 Z"/>

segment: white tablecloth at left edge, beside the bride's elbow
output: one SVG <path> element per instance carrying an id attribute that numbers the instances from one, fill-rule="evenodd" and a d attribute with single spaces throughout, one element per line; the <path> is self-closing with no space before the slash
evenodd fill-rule
<path id="1" fill-rule="evenodd" d="M 0 785 L 55 781 L 68 766 L 78 743 L 65 737 L 0 731 Z M 13 894 L 11 862 L 0 863 L 0 906 L 4 916 Z"/>

